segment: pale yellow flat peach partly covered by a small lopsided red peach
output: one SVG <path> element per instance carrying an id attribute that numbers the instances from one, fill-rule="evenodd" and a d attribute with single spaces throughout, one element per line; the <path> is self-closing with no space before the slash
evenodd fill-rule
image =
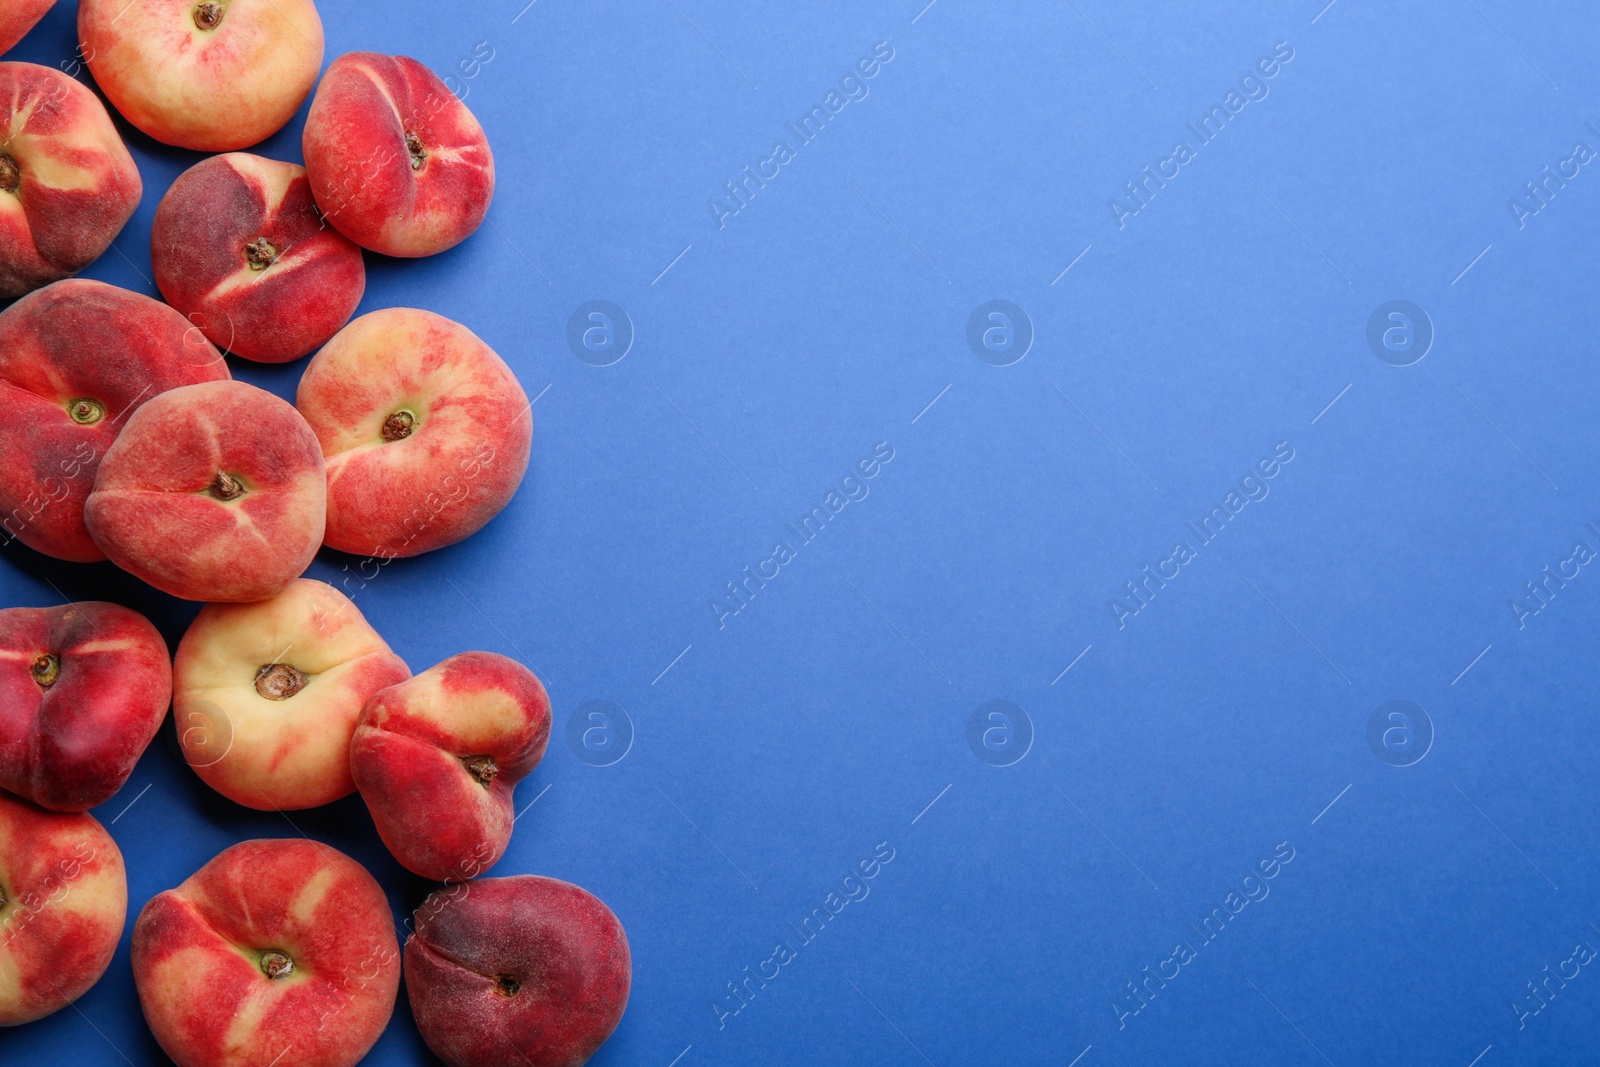
<path id="1" fill-rule="evenodd" d="M 178 739 L 229 800 L 315 808 L 355 792 L 362 705 L 410 677 L 349 597 L 301 577 L 272 600 L 200 609 L 178 645 Z"/>

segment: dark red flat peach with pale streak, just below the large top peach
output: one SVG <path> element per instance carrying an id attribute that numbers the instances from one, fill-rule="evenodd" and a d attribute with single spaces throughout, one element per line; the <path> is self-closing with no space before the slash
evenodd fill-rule
<path id="1" fill-rule="evenodd" d="M 306 170 L 248 152 L 214 155 L 173 182 L 155 210 L 150 262 L 168 304 L 262 363 L 320 347 L 366 290 L 362 250 L 323 226 Z"/>

